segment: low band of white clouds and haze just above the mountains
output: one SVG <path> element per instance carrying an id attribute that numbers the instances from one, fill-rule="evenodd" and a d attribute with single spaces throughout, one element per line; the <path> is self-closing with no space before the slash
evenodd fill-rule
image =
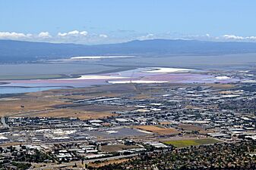
<path id="1" fill-rule="evenodd" d="M 143 32 L 109 32 L 104 33 L 87 32 L 85 30 L 72 30 L 69 32 L 58 32 L 50 34 L 50 32 L 24 33 L 24 32 L 0 32 L 0 39 L 14 39 L 31 42 L 57 42 L 57 43 L 77 43 L 77 44 L 106 44 L 128 42 L 134 39 L 194 39 L 202 41 L 234 41 L 234 42 L 256 42 L 256 36 L 236 36 L 226 34 L 223 36 L 210 36 L 209 33 L 204 35 L 181 34 L 179 32 L 163 32 L 163 33 L 143 33 Z"/>

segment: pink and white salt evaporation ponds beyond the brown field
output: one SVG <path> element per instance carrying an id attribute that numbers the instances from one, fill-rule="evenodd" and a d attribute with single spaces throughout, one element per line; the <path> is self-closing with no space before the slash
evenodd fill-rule
<path id="1" fill-rule="evenodd" d="M 239 79 L 216 79 L 198 70 L 175 68 L 138 68 L 135 70 L 97 75 L 83 75 L 74 79 L 29 79 L 0 81 L 0 94 L 44 91 L 55 88 L 83 88 L 93 85 L 124 83 L 229 83 Z M 26 88 L 24 88 L 26 87 Z"/>

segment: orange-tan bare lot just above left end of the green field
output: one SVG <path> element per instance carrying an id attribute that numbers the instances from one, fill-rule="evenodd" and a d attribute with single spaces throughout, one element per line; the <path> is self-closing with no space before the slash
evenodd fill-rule
<path id="1" fill-rule="evenodd" d="M 141 129 L 143 131 L 150 131 L 156 134 L 176 134 L 178 131 L 175 128 L 162 128 L 156 125 L 137 125 L 134 128 Z"/>

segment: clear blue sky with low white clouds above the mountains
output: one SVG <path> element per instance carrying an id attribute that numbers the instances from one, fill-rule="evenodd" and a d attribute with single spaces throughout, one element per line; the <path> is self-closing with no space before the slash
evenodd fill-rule
<path id="1" fill-rule="evenodd" d="M 0 39 L 256 42 L 254 0 L 0 0 Z"/>

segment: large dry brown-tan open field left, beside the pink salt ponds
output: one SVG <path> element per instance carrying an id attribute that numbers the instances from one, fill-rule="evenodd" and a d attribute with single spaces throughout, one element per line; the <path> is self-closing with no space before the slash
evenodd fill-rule
<path id="1" fill-rule="evenodd" d="M 128 91 L 126 91 L 128 90 Z M 119 92 L 117 92 L 119 91 Z M 131 85 L 99 86 L 92 88 L 71 88 L 35 93 L 18 94 L 0 100 L 0 116 L 46 116 L 46 117 L 78 117 L 80 119 L 100 119 L 114 116 L 114 111 L 123 110 L 122 107 L 112 106 L 82 106 L 58 108 L 58 106 L 72 105 L 72 100 L 93 97 L 119 97 L 122 91 L 134 91 Z"/>

